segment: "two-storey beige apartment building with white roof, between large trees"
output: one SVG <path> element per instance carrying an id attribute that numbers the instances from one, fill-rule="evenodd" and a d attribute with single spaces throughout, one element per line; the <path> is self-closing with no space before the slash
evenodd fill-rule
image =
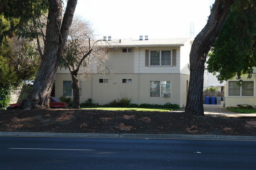
<path id="1" fill-rule="evenodd" d="M 186 106 L 189 84 L 189 53 L 193 38 L 166 38 L 109 41 L 110 69 L 113 75 L 102 74 L 87 66 L 91 75 L 80 82 L 80 102 L 107 104 L 127 97 L 135 104 L 179 104 Z M 85 69 L 88 69 L 85 68 Z M 69 70 L 58 69 L 55 97 L 72 98 Z"/>

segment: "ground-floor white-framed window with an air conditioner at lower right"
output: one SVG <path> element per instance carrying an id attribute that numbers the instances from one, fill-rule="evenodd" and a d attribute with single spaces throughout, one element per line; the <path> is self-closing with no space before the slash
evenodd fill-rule
<path id="1" fill-rule="evenodd" d="M 150 97 L 171 97 L 171 81 L 150 81 Z"/>

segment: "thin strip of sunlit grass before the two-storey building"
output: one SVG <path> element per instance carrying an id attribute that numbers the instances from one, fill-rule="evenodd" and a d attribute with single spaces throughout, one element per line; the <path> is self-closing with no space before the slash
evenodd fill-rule
<path id="1" fill-rule="evenodd" d="M 103 108 L 103 107 L 80 107 L 80 109 L 113 110 L 113 111 L 144 111 L 144 112 L 168 112 L 169 108 Z M 172 109 L 177 110 L 177 109 Z"/>

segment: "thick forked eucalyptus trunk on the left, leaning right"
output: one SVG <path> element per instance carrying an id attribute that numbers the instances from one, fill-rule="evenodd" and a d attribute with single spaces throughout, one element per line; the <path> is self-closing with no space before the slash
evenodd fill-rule
<path id="1" fill-rule="evenodd" d="M 49 98 L 59 64 L 59 57 L 64 49 L 69 34 L 77 0 L 69 0 L 62 20 L 61 0 L 49 0 L 46 41 L 41 65 L 37 72 L 33 91 L 23 108 L 49 107 Z"/>

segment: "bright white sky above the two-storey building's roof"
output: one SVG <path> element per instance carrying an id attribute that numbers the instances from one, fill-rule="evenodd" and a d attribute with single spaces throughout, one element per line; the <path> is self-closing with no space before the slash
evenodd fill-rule
<path id="1" fill-rule="evenodd" d="M 76 13 L 93 24 L 98 38 L 191 37 L 206 25 L 214 0 L 78 0 Z M 193 32 L 193 31 L 192 31 Z M 192 33 L 193 36 L 193 33 Z"/>

